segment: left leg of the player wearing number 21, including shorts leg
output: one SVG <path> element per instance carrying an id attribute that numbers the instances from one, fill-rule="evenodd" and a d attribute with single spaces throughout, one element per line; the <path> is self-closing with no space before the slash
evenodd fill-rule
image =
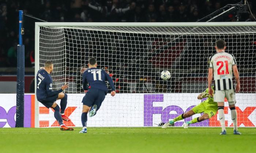
<path id="1" fill-rule="evenodd" d="M 215 90 L 213 101 L 218 103 L 219 122 L 221 123 L 221 130 L 222 130 L 220 134 L 226 134 L 224 100 L 225 100 L 225 91 Z"/>

